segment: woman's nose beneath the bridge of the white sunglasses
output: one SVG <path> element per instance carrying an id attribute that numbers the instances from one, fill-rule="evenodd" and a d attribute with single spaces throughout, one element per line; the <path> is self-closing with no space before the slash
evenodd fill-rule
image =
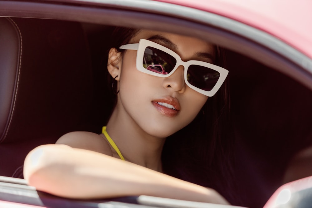
<path id="1" fill-rule="evenodd" d="M 184 92 L 186 84 L 184 82 L 184 67 L 182 65 L 171 76 L 164 78 L 163 87 L 174 92 Z"/>

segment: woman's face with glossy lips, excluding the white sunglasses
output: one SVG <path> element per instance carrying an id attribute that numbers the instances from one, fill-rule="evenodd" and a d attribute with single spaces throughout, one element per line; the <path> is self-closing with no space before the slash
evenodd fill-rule
<path id="1" fill-rule="evenodd" d="M 149 39 L 175 51 L 183 61 L 212 63 L 214 47 L 200 39 L 172 33 L 141 30 L 130 43 Z M 134 122 L 149 135 L 165 138 L 188 125 L 207 101 L 207 96 L 189 88 L 184 67 L 163 78 L 136 69 L 136 50 L 126 50 L 119 62 L 119 94 L 116 109 L 124 123 Z M 173 109 L 174 108 L 174 109 Z"/>

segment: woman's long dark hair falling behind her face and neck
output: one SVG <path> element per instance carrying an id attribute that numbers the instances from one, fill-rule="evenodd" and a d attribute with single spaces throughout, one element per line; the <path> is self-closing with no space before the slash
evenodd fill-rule
<path id="1" fill-rule="evenodd" d="M 117 27 L 112 32 L 109 48 L 129 43 L 139 29 Z M 216 47 L 216 65 L 225 67 L 223 49 Z M 226 68 L 226 67 L 225 67 Z M 107 71 L 107 70 L 106 70 Z M 108 73 L 107 73 L 108 74 Z M 108 91 L 114 101 L 110 102 L 110 112 L 116 103 L 112 93 L 113 78 L 108 74 Z M 185 181 L 217 190 L 230 202 L 232 193 L 232 138 L 230 137 L 230 100 L 226 80 L 218 92 L 207 99 L 197 117 L 188 126 L 166 139 L 162 162 L 164 173 Z M 107 118 L 106 122 L 109 118 Z"/>

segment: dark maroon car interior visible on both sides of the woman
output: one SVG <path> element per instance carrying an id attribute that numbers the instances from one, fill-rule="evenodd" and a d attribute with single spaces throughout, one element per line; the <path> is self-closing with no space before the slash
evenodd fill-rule
<path id="1" fill-rule="evenodd" d="M 25 185 L 23 161 L 30 150 L 71 131 L 101 132 L 109 116 L 103 89 L 113 26 L 0 17 L 0 28 L 0 175 Z M 263 207 L 284 184 L 290 160 L 312 145 L 312 88 L 281 72 L 284 66 L 299 66 L 272 56 L 269 49 L 248 56 L 235 47 L 225 49 L 235 138 L 234 195 L 240 206 Z M 61 203 L 39 195 L 53 206 Z"/>

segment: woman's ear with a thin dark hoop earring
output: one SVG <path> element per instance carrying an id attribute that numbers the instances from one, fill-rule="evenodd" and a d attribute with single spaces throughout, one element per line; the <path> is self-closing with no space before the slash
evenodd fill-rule
<path id="1" fill-rule="evenodd" d="M 119 69 L 121 69 L 121 52 L 117 52 L 116 48 L 111 48 L 108 53 L 107 70 L 113 78 L 118 76 L 116 77 L 116 80 L 119 80 Z"/>

